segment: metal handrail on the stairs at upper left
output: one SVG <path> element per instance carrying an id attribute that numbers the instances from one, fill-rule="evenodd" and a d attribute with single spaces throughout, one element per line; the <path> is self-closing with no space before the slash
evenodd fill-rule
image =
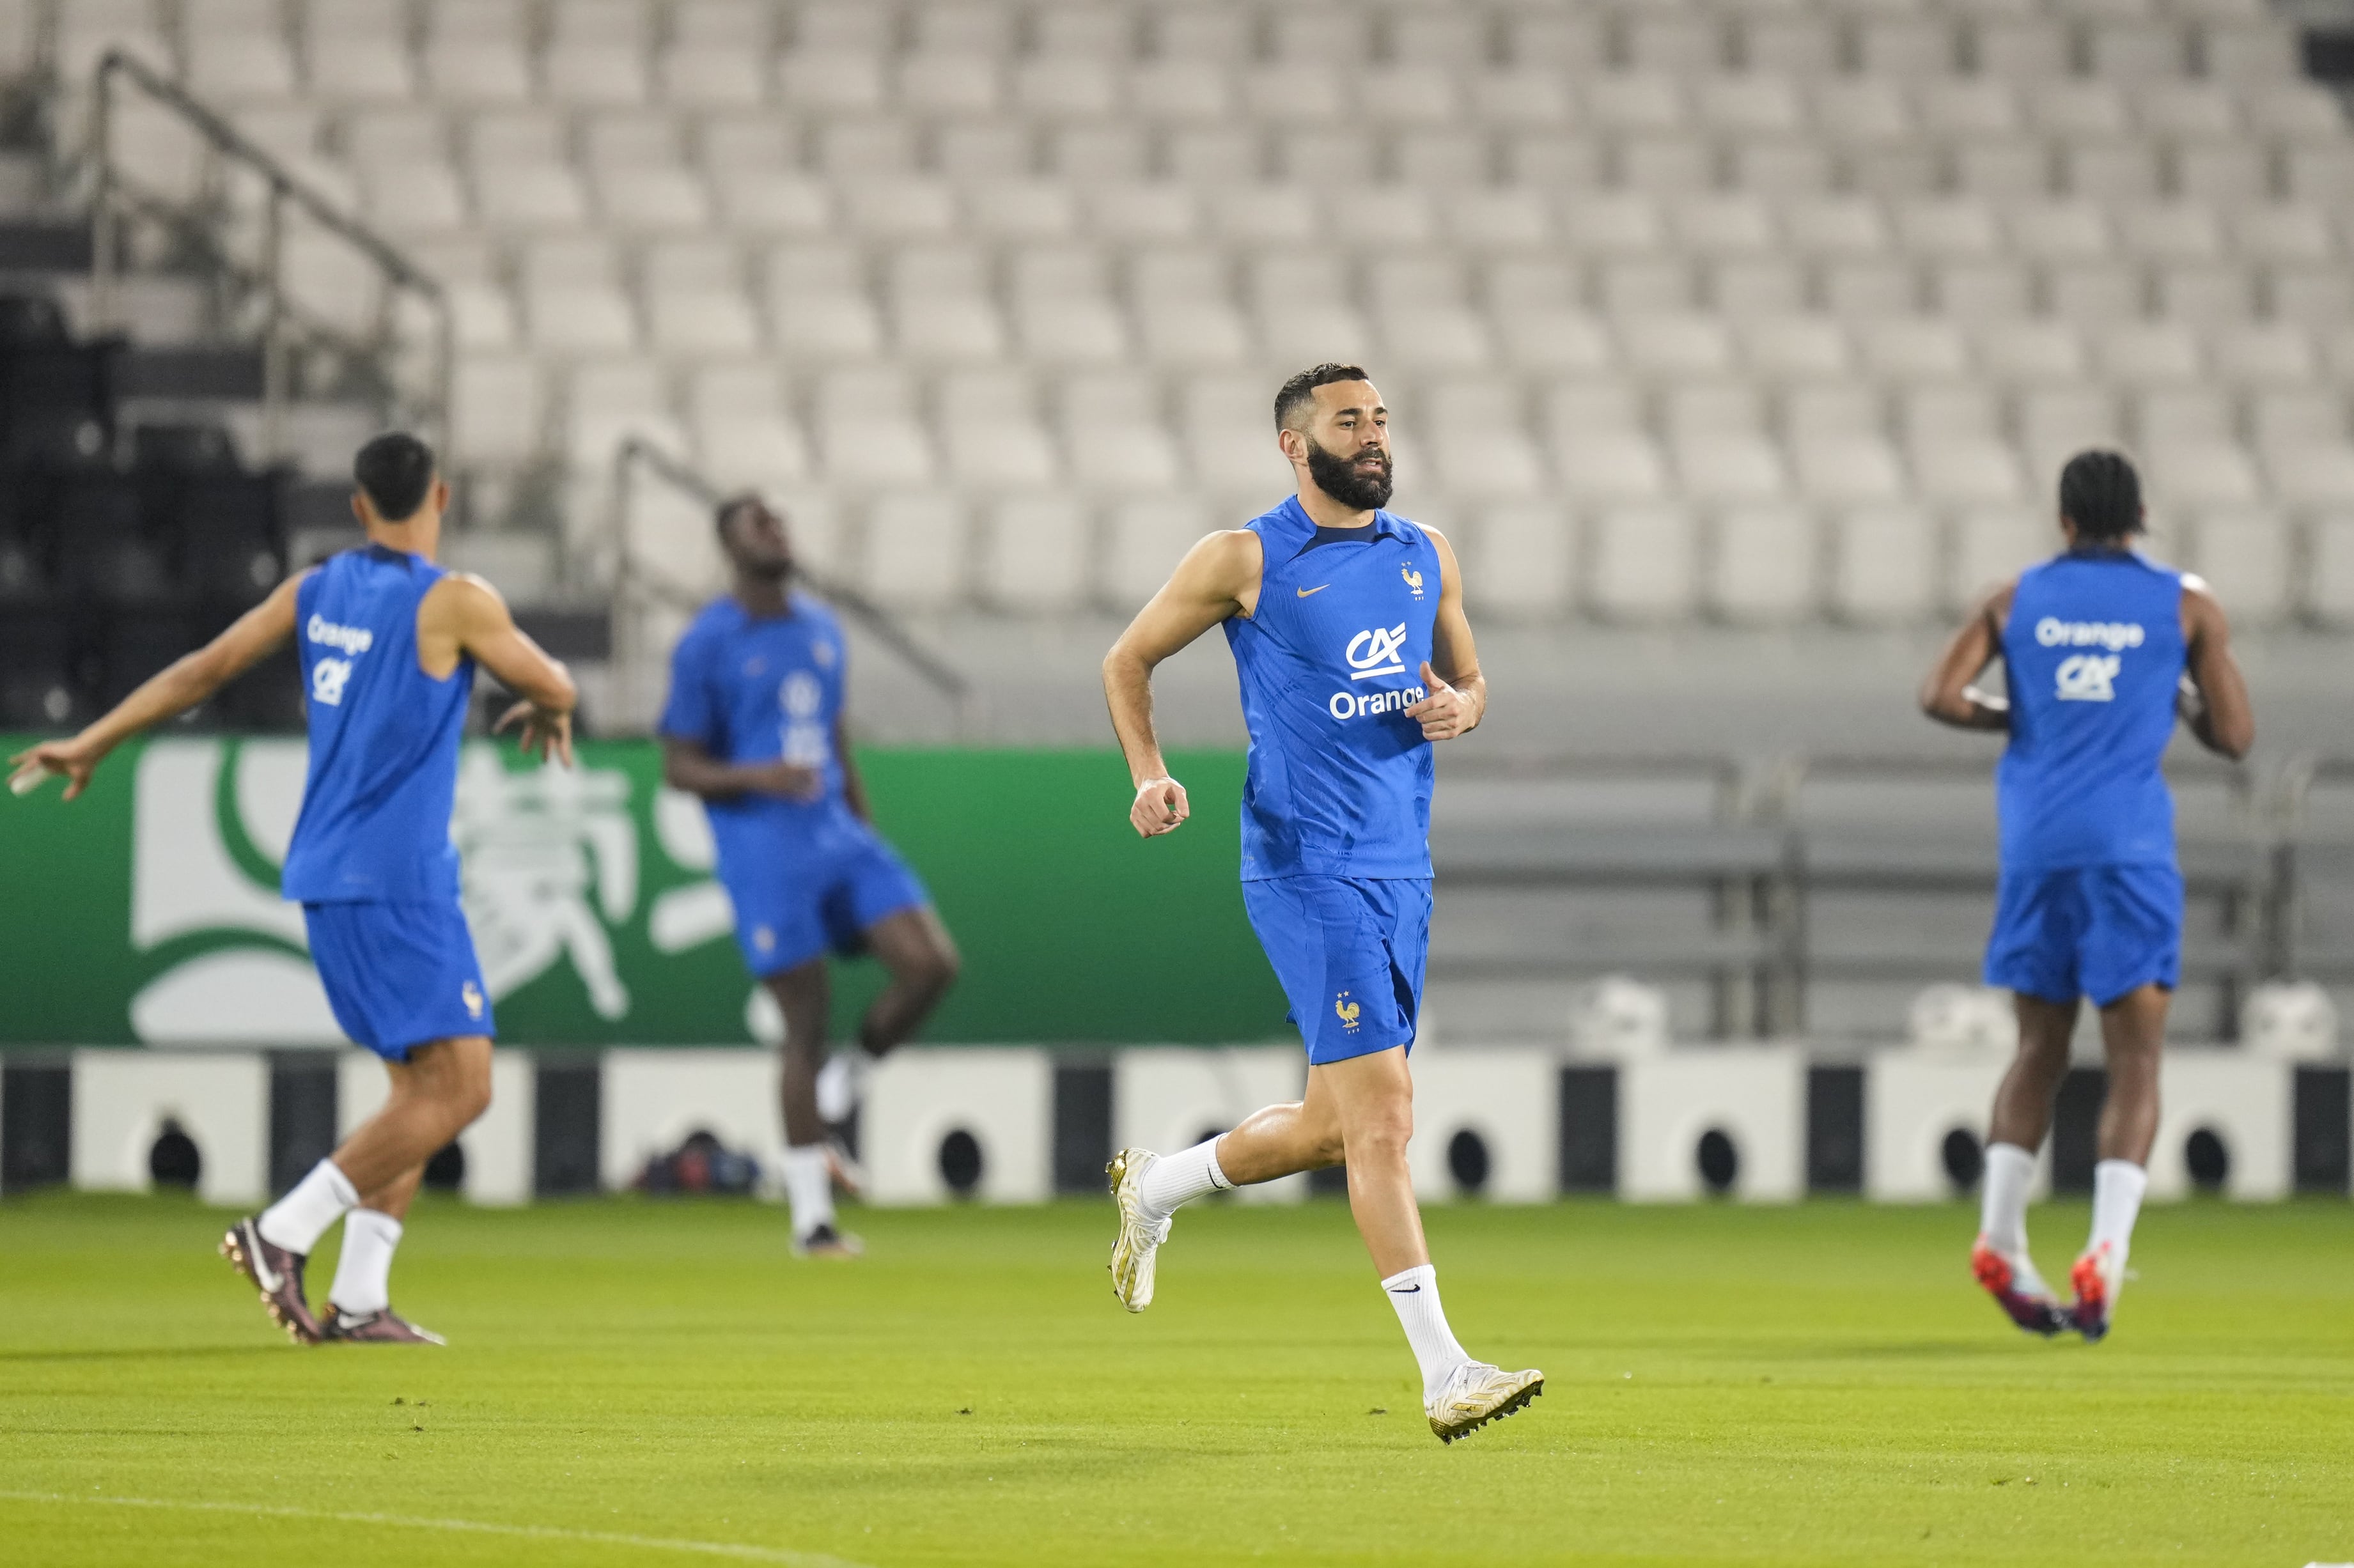
<path id="1" fill-rule="evenodd" d="M 301 177 L 287 170 L 275 155 L 245 137 L 235 125 L 224 120 L 219 113 L 191 97 L 179 82 L 160 75 L 153 66 L 141 61 L 125 49 L 108 49 L 99 59 L 94 75 L 94 151 L 97 151 L 97 191 L 92 193 L 92 308 L 101 325 L 113 325 L 115 313 L 115 278 L 120 271 L 120 245 L 115 235 L 118 205 L 129 191 L 129 181 L 115 167 L 113 148 L 113 122 L 115 122 L 115 80 L 129 80 L 153 101 L 162 104 L 188 127 L 202 137 L 217 153 L 231 158 L 240 165 L 254 170 L 268 184 L 268 205 L 264 210 L 264 257 L 259 283 L 264 287 L 268 315 L 261 327 L 261 363 L 264 363 L 264 445 L 271 447 L 271 457 L 278 457 L 282 414 L 287 400 L 287 372 L 285 372 L 285 337 L 287 325 L 294 320 L 297 311 L 287 306 L 285 297 L 285 210 L 292 205 L 301 210 L 313 224 L 337 235 L 363 257 L 367 257 L 377 271 L 386 275 L 393 290 L 410 290 L 428 304 L 433 311 L 433 391 L 431 403 L 417 412 L 417 421 L 438 440 L 450 433 L 452 412 L 452 381 L 457 374 L 457 320 L 450 306 L 450 294 L 438 278 L 426 273 L 417 261 L 400 252 L 391 240 L 372 231 L 360 219 L 341 212 L 330 198 L 311 188 Z M 179 217 L 179 214 L 174 214 Z M 384 308 L 379 313 L 379 332 L 388 339 L 393 320 L 391 292 L 386 294 Z M 337 339 L 332 330 L 311 323 L 311 332 L 318 337 Z M 391 344 L 381 341 L 374 348 L 381 353 Z M 384 377 L 386 388 L 398 388 L 395 377 Z M 391 410 L 388 410 L 391 412 Z"/>

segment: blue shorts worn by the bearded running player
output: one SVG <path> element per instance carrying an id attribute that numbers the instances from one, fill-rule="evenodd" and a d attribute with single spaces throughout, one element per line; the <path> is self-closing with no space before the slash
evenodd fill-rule
<path id="1" fill-rule="evenodd" d="M 1243 883 L 1309 1062 L 1412 1048 L 1431 956 L 1429 878 L 1281 876 Z"/>

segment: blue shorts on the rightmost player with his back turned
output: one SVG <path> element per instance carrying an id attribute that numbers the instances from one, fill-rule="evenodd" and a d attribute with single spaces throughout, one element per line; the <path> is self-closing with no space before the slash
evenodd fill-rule
<path id="1" fill-rule="evenodd" d="M 2003 871 L 1987 984 L 2107 1008 L 2182 977 L 2182 873 L 2173 866 Z"/>

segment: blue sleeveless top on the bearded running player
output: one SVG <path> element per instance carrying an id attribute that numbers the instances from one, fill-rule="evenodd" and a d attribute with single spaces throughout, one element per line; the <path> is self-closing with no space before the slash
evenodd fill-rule
<path id="1" fill-rule="evenodd" d="M 1243 685 L 1243 881 L 1429 876 L 1431 744 L 1405 706 L 1438 617 L 1438 549 L 1387 511 L 1323 544 L 1292 497 L 1252 518 L 1259 605 L 1226 619 Z"/>

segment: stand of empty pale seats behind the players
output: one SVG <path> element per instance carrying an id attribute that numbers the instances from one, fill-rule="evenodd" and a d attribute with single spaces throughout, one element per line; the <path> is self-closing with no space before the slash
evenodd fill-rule
<path id="1" fill-rule="evenodd" d="M 2354 137 L 2262 0 L 0 12 L 355 193 L 457 294 L 457 461 L 570 469 L 577 534 L 647 433 L 878 596 L 1125 607 L 1123 490 L 1257 511 L 1203 410 L 1358 358 L 1401 509 L 1537 551 L 1497 614 L 1935 614 L 2090 440 L 2241 617 L 2345 614 Z"/>

